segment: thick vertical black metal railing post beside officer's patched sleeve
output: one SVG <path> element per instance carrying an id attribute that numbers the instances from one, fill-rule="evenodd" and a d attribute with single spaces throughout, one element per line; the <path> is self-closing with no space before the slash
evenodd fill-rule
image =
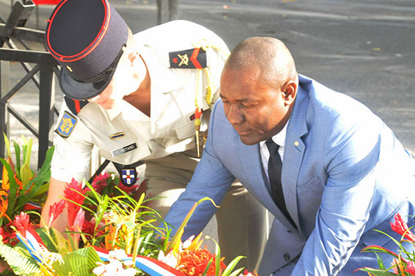
<path id="1" fill-rule="evenodd" d="M 49 141 L 53 140 L 53 106 L 55 104 L 55 92 L 53 71 L 50 64 L 42 63 L 40 68 L 39 83 L 39 155 L 37 167 L 44 163 Z"/>

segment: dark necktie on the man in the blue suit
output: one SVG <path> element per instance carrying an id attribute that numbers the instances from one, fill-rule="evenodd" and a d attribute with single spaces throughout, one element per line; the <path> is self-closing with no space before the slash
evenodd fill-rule
<path id="1" fill-rule="evenodd" d="M 279 210 L 284 213 L 286 218 L 291 222 L 294 228 L 295 223 L 288 213 L 284 194 L 282 193 L 282 184 L 281 184 L 281 171 L 282 171 L 282 161 L 278 153 L 279 146 L 275 144 L 272 139 L 268 139 L 265 142 L 269 152 L 270 159 L 268 160 L 268 176 L 270 177 L 270 186 L 271 186 L 271 197 L 273 197 L 275 204 L 277 204 Z"/>

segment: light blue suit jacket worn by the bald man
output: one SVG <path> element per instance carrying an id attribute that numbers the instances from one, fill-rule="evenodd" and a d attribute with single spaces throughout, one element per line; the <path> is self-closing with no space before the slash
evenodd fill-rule
<path id="1" fill-rule="evenodd" d="M 312 79 L 299 76 L 282 166 L 284 199 L 297 229 L 270 197 L 259 144 L 241 142 L 221 101 L 209 131 L 192 181 L 165 220 L 177 228 L 198 199 L 221 202 L 236 177 L 275 216 L 260 276 L 279 275 L 300 254 L 292 275 L 351 275 L 363 266 L 377 267 L 374 253 L 360 250 L 396 246 L 372 229 L 391 233 L 395 213 L 406 220 L 415 215 L 414 160 L 394 133 L 358 101 Z M 214 211 L 208 202 L 196 208 L 184 237 L 200 233 Z"/>

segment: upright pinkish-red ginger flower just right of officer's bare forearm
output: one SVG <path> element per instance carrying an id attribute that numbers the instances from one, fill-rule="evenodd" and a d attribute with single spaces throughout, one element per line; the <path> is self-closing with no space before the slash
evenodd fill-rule
<path id="1" fill-rule="evenodd" d="M 85 193 L 86 191 L 82 189 L 82 183 L 78 183 L 75 179 L 72 179 L 71 183 L 66 184 L 64 191 L 66 199 L 70 199 L 80 205 L 84 203 Z M 75 217 L 81 208 L 81 206 L 71 201 L 68 201 L 68 224 L 70 228 L 72 228 Z"/>

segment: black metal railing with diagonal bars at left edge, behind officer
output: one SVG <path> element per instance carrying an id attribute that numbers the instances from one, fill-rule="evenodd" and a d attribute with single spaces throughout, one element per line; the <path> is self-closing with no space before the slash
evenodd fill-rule
<path id="1" fill-rule="evenodd" d="M 46 157 L 46 150 L 52 145 L 54 114 L 58 114 L 53 94 L 53 73 L 58 75 L 59 69 L 57 61 L 48 52 L 30 50 L 26 43 L 26 41 L 44 43 L 44 31 L 25 28 L 28 17 L 34 9 L 35 4 L 32 1 L 25 3 L 17 1 L 7 21 L 0 17 L 0 157 L 5 157 L 3 132 L 10 135 L 9 115 L 12 115 L 39 139 L 37 166 L 40 168 Z M 18 49 L 12 39 L 19 40 L 25 49 Z M 8 66 L 10 61 L 19 62 L 26 70 L 26 75 L 9 90 L 7 78 L 10 78 Z M 35 63 L 35 66 L 32 67 L 29 63 Z M 28 81 L 33 81 L 39 90 L 38 130 L 10 106 L 10 98 Z"/>

